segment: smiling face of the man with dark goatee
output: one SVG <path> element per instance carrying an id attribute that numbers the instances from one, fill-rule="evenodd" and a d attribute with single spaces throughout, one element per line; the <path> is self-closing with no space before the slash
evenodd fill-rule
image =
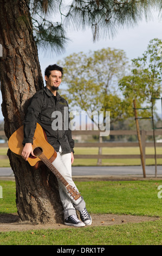
<path id="1" fill-rule="evenodd" d="M 61 83 L 62 74 L 59 70 L 50 71 L 50 76 L 45 76 L 46 86 L 49 90 L 54 91 L 57 90 Z"/>

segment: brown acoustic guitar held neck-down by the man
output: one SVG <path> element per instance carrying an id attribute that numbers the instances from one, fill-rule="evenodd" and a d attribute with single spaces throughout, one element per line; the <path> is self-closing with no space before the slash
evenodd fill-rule
<path id="1" fill-rule="evenodd" d="M 23 150 L 23 125 L 17 129 L 9 138 L 8 146 L 9 149 L 16 156 L 21 157 Z M 51 172 L 53 172 L 57 179 L 59 179 L 62 184 L 67 188 L 69 196 L 72 196 L 75 200 L 81 197 L 80 193 L 75 190 L 74 187 L 68 184 L 68 182 L 63 178 L 59 171 L 53 166 L 52 162 L 56 159 L 57 152 L 55 149 L 47 142 L 46 133 L 42 129 L 42 126 L 37 123 L 34 137 L 33 137 L 33 153 L 35 156 L 30 155 L 28 157 L 28 162 L 31 167 L 35 170 L 45 164 Z"/>

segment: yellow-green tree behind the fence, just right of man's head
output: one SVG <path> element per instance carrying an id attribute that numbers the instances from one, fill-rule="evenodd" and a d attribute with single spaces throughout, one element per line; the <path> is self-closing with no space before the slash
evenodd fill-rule
<path id="1" fill-rule="evenodd" d="M 94 125 L 100 124 L 92 115 L 103 111 L 105 123 L 106 111 L 111 112 L 111 124 L 126 117 L 124 104 L 118 92 L 118 80 L 126 74 L 128 60 L 122 50 L 103 48 L 89 53 L 75 53 L 64 58 L 64 79 L 67 89 L 64 97 L 70 102 L 71 109 L 80 108 L 89 113 Z M 102 142 L 102 136 L 99 137 Z M 102 148 L 99 148 L 99 154 Z M 98 165 L 101 159 L 98 160 Z"/>

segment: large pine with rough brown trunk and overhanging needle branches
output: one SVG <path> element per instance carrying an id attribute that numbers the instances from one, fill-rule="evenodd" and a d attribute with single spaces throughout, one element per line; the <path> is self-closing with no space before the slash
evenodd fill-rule
<path id="1" fill-rule="evenodd" d="M 74 20 L 76 27 L 91 26 L 97 39 L 99 32 L 105 36 L 121 26 L 137 24 L 157 2 L 77 0 L 64 9 L 62 0 L 0 0 L 0 77 L 6 136 L 9 138 L 22 125 L 28 100 L 43 87 L 36 44 L 62 50 L 66 43 L 64 25 Z M 60 22 L 54 19 L 57 13 Z M 8 155 L 21 220 L 60 221 L 62 207 L 54 175 L 43 169 L 33 172 L 28 163 L 16 159 L 10 151 Z"/>

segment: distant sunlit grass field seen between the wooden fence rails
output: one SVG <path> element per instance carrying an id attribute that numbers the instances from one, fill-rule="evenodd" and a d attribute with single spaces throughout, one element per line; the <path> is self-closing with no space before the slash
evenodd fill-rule
<path id="1" fill-rule="evenodd" d="M 6 155 L 8 148 L 0 148 L 0 155 Z M 75 148 L 75 155 L 89 155 L 98 154 L 98 148 Z M 157 154 L 162 155 L 162 148 L 157 147 Z M 102 154 L 108 155 L 140 155 L 138 147 L 115 147 L 115 148 L 102 148 Z M 147 147 L 146 154 L 154 155 L 154 148 Z M 74 157 L 75 157 L 74 155 Z M 75 159 L 73 166 L 96 166 L 96 159 Z M 162 159 L 157 159 L 157 164 L 162 165 Z M 140 159 L 102 159 L 102 166 L 139 166 L 141 165 Z M 146 159 L 146 165 L 154 165 L 154 159 Z M 10 167 L 8 159 L 0 160 L 0 167 Z"/>

